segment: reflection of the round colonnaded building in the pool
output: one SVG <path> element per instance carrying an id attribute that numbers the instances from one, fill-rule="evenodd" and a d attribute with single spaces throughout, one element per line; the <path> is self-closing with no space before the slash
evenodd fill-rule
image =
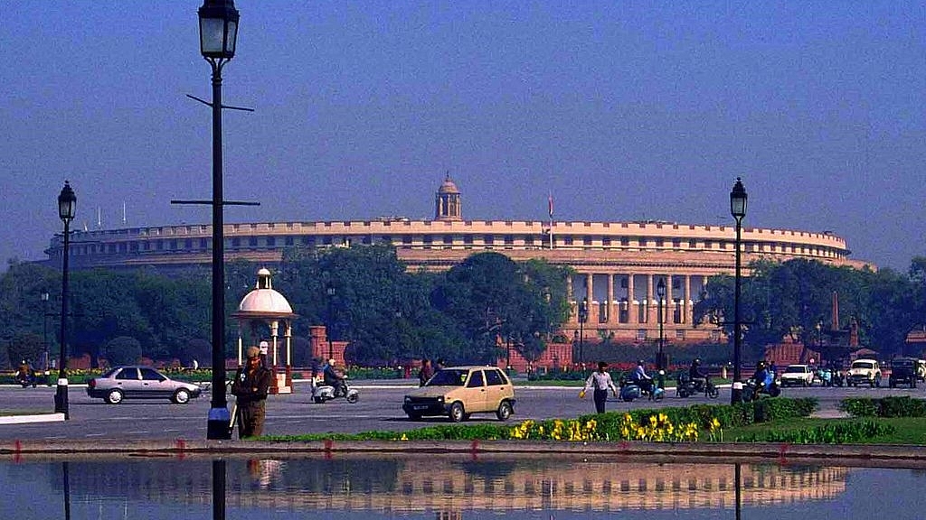
<path id="1" fill-rule="evenodd" d="M 229 461 L 230 506 L 434 511 L 455 518 L 454 512 L 471 510 L 621 511 L 735 504 L 732 464 L 586 463 L 569 458 L 472 462 L 437 456 L 269 463 Z M 208 464 L 78 463 L 73 464 L 70 486 L 72 492 L 203 503 L 211 493 Z M 844 467 L 745 464 L 742 504 L 832 500 L 845 491 L 848 473 Z"/>

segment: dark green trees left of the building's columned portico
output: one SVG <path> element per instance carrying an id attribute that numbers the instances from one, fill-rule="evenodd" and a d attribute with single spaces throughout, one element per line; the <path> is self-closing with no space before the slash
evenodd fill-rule
<path id="1" fill-rule="evenodd" d="M 227 316 L 255 288 L 260 267 L 226 265 Z M 310 363 L 309 327 L 315 325 L 328 326 L 333 340 L 348 341 L 346 356 L 357 364 L 421 357 L 490 363 L 498 355 L 497 337 L 512 340 L 528 358 L 544 351 L 569 315 L 567 272 L 495 253 L 474 254 L 443 273 L 409 272 L 388 246 L 293 248 L 276 266 L 273 287 L 299 316 L 294 365 Z M 10 263 L 0 278 L 0 366 L 43 359 L 46 339 L 50 357 L 57 357 L 60 287 L 58 270 Z M 208 365 L 210 291 L 208 267 L 74 271 L 69 356 L 89 354 L 94 365 L 101 357 L 116 365 L 141 356 Z M 236 339 L 237 324 L 228 320 L 229 357 Z"/>

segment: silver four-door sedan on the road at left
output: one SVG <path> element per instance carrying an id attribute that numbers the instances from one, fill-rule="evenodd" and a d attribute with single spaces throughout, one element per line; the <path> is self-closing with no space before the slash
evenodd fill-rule
<path id="1" fill-rule="evenodd" d="M 186 404 L 203 388 L 168 378 L 150 366 L 117 366 L 87 383 L 87 395 L 118 404 L 123 399 L 169 399 Z"/>

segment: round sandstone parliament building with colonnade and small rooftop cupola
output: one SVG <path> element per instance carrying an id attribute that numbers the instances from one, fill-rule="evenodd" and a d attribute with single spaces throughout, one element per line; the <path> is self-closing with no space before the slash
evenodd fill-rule
<path id="1" fill-rule="evenodd" d="M 552 209 L 552 208 L 551 208 Z M 227 260 L 278 264 L 293 247 L 351 247 L 390 244 L 409 269 L 444 270 L 470 254 L 494 251 L 514 261 L 544 259 L 569 266 L 573 313 L 564 324 L 580 327 L 578 308 L 588 316 L 585 337 L 655 340 L 658 334 L 657 284 L 663 280 L 664 334 L 670 342 L 720 340 L 720 328 L 694 327 L 694 303 L 707 279 L 732 275 L 735 229 L 732 225 L 680 224 L 657 220 L 571 222 L 540 220 L 467 220 L 462 194 L 449 176 L 435 193 L 434 218 L 404 217 L 324 222 L 226 224 Z M 211 225 L 177 225 L 77 231 L 70 241 L 73 268 L 135 266 L 182 267 L 211 262 Z M 870 266 L 850 259 L 845 239 L 829 231 L 744 228 L 743 266 L 760 259 L 818 260 L 833 266 Z M 60 236 L 52 239 L 48 263 L 59 265 Z M 744 271 L 748 275 L 748 269 Z"/>

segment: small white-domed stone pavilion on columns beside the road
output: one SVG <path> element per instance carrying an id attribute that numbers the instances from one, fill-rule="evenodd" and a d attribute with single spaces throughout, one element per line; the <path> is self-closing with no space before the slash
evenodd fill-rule
<path id="1" fill-rule="evenodd" d="M 296 315 L 293 307 L 281 293 L 273 290 L 270 271 L 261 268 L 257 271 L 257 287 L 248 292 L 238 304 L 238 310 L 232 313 L 238 320 L 238 365 L 242 364 L 245 336 L 249 344 L 260 347 L 263 363 L 273 372 L 270 393 L 293 392 L 293 320 Z M 280 339 L 280 325 L 283 326 L 283 338 L 286 340 L 286 365 L 277 362 L 277 345 Z M 262 340 L 269 332 L 269 342 Z M 272 351 L 270 351 L 270 343 Z M 269 351 L 269 352 L 268 352 Z M 267 353 L 267 355 L 263 355 Z M 282 369 L 281 369 L 282 368 Z"/>

